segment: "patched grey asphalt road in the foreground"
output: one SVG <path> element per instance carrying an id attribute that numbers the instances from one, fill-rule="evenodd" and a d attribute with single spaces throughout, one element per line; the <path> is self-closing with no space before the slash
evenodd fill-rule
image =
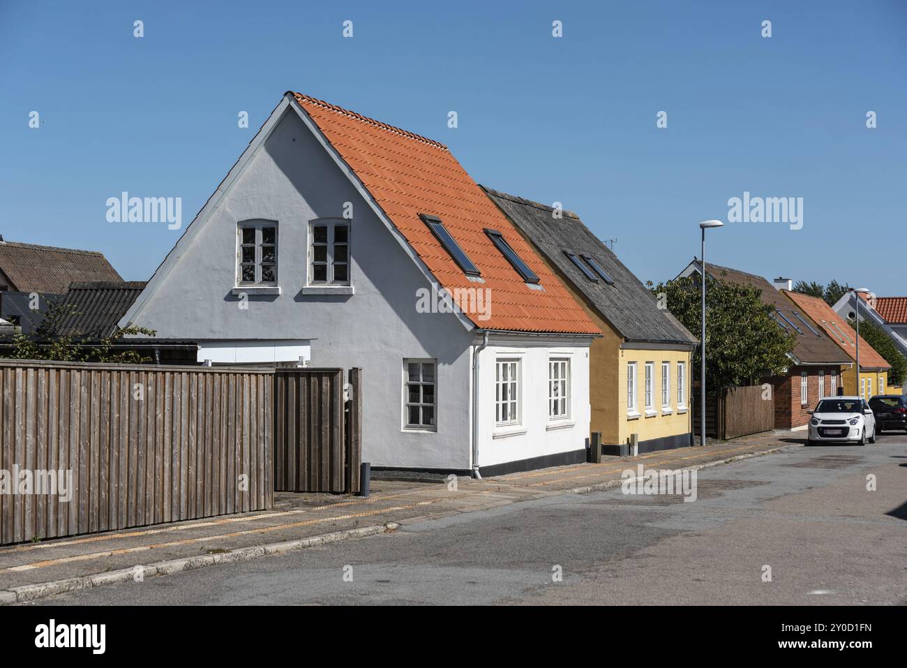
<path id="1" fill-rule="evenodd" d="M 682 499 L 555 496 L 38 604 L 907 602 L 907 435 L 711 467 Z"/>

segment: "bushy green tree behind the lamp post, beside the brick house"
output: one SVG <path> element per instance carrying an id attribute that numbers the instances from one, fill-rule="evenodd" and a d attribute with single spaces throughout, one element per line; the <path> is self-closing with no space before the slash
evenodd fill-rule
<path id="1" fill-rule="evenodd" d="M 752 385 L 757 378 L 784 373 L 795 339 L 769 315 L 772 309 L 760 298 L 761 290 L 711 277 L 706 287 L 707 388 Z M 664 296 L 659 301 L 684 327 L 698 333 L 702 307 L 697 278 L 659 283 L 651 290 L 657 298 Z M 700 368 L 700 357 L 697 349 L 694 368 Z"/>

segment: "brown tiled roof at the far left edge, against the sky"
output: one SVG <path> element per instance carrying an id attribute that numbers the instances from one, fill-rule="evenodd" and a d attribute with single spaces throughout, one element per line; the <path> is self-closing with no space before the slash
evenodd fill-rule
<path id="1" fill-rule="evenodd" d="M 13 290 L 62 294 L 73 280 L 121 280 L 98 251 L 0 242 L 0 271 Z"/>

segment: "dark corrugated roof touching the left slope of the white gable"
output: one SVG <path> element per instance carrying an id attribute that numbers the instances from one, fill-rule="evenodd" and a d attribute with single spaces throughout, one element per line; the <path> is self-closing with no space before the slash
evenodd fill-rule
<path id="1" fill-rule="evenodd" d="M 144 287 L 141 280 L 73 283 L 63 298 L 65 315 L 58 333 L 78 339 L 110 336 Z"/>

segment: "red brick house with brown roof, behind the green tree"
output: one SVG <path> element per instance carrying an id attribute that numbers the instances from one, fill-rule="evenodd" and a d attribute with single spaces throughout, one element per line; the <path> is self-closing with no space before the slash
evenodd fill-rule
<path id="1" fill-rule="evenodd" d="M 698 260 L 693 260 L 680 277 L 700 273 Z M 772 386 L 775 398 L 775 429 L 805 429 L 809 423 L 806 412 L 815 408 L 823 397 L 833 397 L 842 384 L 844 370 L 853 360 L 829 338 L 803 309 L 787 298 L 782 290 L 790 290 L 790 280 L 776 279 L 773 286 L 762 276 L 729 267 L 708 263 L 713 279 L 727 280 L 761 290 L 762 300 L 770 309 L 778 326 L 795 334 L 795 348 L 790 353 L 791 364 L 782 376 L 762 378 Z"/>

